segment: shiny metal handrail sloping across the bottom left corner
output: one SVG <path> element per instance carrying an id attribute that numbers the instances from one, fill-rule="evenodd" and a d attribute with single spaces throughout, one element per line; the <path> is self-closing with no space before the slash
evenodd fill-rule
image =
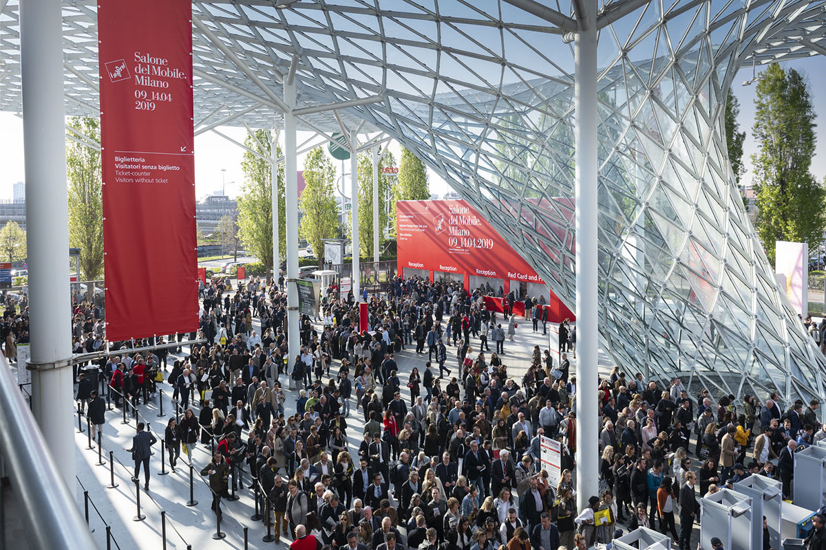
<path id="1" fill-rule="evenodd" d="M 0 355 L 0 452 L 36 548 L 97 548 L 40 427 Z M 74 457 L 72 458 L 74 459 Z"/>

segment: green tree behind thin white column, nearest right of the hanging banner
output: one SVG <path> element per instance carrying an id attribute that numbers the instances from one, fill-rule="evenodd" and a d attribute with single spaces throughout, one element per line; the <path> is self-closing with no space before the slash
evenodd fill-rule
<path id="1" fill-rule="evenodd" d="M 258 157 L 249 151 L 244 153 L 241 161 L 241 171 L 244 172 L 244 186 L 238 197 L 238 237 L 244 243 L 244 248 L 258 258 L 270 279 L 273 269 L 273 173 L 270 162 L 270 152 L 273 147 L 273 136 L 268 130 L 259 129 L 253 135 L 248 135 L 244 145 L 256 151 L 264 158 Z M 281 148 L 276 143 L 276 154 L 281 156 Z M 285 211 L 284 211 L 284 167 L 278 167 L 278 250 L 279 256 L 284 256 L 285 250 Z M 236 247 L 237 248 L 237 247 Z"/>

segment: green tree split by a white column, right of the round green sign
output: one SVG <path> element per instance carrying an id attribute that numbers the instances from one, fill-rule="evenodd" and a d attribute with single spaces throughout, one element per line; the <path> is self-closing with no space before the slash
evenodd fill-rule
<path id="1" fill-rule="evenodd" d="M 379 251 L 384 240 L 384 228 L 387 228 L 390 219 L 387 203 L 391 202 L 394 210 L 396 205 L 391 197 L 392 176 L 382 174 L 382 168 L 395 164 L 392 153 L 383 155 L 378 162 Z M 373 258 L 373 152 L 358 155 L 358 247 L 362 256 Z"/>

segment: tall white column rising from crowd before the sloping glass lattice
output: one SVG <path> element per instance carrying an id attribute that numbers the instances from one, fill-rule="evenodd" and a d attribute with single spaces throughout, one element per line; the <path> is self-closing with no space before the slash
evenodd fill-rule
<path id="1" fill-rule="evenodd" d="M 583 0 L 586 11 L 574 42 L 577 228 L 577 326 L 597 324 L 597 219 L 596 219 L 596 0 Z M 597 437 L 596 335 L 580 330 L 577 341 L 577 510 L 598 496 L 599 452 Z M 591 335 L 589 337 L 589 335 Z"/>

